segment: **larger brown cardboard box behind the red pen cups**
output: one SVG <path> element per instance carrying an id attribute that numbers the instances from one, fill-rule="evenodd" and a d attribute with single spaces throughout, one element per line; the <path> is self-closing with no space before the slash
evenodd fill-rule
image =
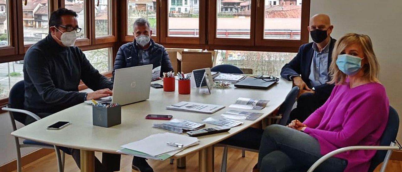
<path id="1" fill-rule="evenodd" d="M 212 68 L 211 52 L 181 52 L 181 72 L 191 73 L 195 69 Z"/>

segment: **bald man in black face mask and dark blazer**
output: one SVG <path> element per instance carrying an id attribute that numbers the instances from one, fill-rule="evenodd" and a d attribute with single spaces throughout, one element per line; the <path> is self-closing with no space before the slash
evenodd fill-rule
<path id="1" fill-rule="evenodd" d="M 314 42 L 301 45 L 299 52 L 281 70 L 281 76 L 300 88 L 297 108 L 293 109 L 290 120 L 303 122 L 326 102 L 334 85 L 326 84 L 332 61 L 332 49 L 336 40 L 330 37 L 331 21 L 326 14 L 316 14 L 310 18 L 308 31 Z"/>

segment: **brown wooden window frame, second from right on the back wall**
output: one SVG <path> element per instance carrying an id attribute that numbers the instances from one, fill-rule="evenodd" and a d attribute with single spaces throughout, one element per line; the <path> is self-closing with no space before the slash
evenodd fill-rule
<path id="1" fill-rule="evenodd" d="M 257 0 L 258 1 L 258 0 Z M 256 26 L 256 1 L 251 0 L 250 16 L 250 39 L 240 38 L 218 38 L 217 33 L 217 0 L 209 0 L 209 44 L 211 45 L 234 45 L 234 46 L 254 46 L 254 35 Z"/>

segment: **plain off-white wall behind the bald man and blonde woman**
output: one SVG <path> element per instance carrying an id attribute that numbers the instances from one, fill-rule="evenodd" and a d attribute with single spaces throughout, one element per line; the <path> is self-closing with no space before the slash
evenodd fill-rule
<path id="1" fill-rule="evenodd" d="M 325 13 L 334 25 L 332 37 L 369 35 L 380 63 L 380 78 L 390 104 L 402 122 L 402 0 L 311 0 L 310 14 Z M 311 41 L 311 40 L 310 40 Z M 375 107 L 373 107 L 375 108 Z M 402 123 L 398 140 L 402 140 Z"/>

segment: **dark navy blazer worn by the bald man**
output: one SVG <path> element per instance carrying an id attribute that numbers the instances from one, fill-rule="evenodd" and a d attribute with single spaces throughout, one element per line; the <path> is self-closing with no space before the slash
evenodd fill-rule
<path id="1" fill-rule="evenodd" d="M 328 69 L 332 62 L 332 50 L 334 49 L 335 42 L 336 39 L 333 39 L 331 37 L 331 43 L 328 52 Z M 311 72 L 310 67 L 313 55 L 314 55 L 313 42 L 301 45 L 299 48 L 299 52 L 297 52 L 296 57 L 294 57 L 289 63 L 286 63 L 285 66 L 283 66 L 281 70 L 282 78 L 286 78 L 287 80 L 291 81 L 289 78 L 290 76 L 301 75 L 301 79 L 307 84 L 309 88 L 312 88 L 312 85 L 308 77 L 310 76 Z M 330 78 L 331 77 L 328 76 L 328 80 L 330 80 Z M 316 93 L 322 92 L 328 95 L 331 94 L 333 88 L 334 84 L 330 85 L 322 84 L 320 86 L 314 87 Z"/>

